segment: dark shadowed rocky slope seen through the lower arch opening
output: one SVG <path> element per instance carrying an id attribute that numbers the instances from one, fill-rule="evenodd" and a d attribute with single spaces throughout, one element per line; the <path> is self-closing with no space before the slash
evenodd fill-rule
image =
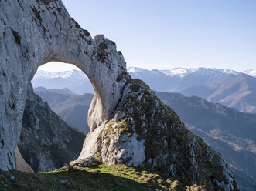
<path id="1" fill-rule="evenodd" d="M 84 139 L 84 133 L 67 126 L 29 88 L 18 146 L 35 172 L 51 171 L 77 159 Z"/>

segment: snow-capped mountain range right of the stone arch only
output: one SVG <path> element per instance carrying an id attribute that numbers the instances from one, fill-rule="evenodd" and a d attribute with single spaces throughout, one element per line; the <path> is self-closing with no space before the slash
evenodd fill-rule
<path id="1" fill-rule="evenodd" d="M 256 69 L 236 72 L 206 68 L 162 71 L 128 68 L 128 72 L 156 91 L 196 95 L 241 112 L 256 113 Z"/>

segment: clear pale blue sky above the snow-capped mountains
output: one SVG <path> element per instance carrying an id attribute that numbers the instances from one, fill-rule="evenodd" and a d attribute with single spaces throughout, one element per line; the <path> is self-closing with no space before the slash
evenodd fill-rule
<path id="1" fill-rule="evenodd" d="M 63 0 L 63 3 L 93 37 L 104 34 L 116 42 L 129 66 L 207 67 L 239 72 L 256 69 L 255 0 Z M 48 64 L 43 69 L 72 68 L 56 66 Z"/>

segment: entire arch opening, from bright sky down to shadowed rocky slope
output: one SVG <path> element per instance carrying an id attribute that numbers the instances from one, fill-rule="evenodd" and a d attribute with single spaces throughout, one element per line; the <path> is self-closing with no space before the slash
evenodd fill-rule
<path id="1" fill-rule="evenodd" d="M 90 131 L 87 116 L 94 89 L 84 72 L 60 62 L 39 67 L 32 86 L 34 93 L 29 91 L 26 99 L 19 151 L 35 172 L 66 166 L 78 158 L 85 134 Z"/>

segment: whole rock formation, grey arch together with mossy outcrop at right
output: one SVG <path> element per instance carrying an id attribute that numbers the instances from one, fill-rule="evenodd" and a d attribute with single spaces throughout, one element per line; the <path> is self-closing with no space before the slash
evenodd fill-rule
<path id="1" fill-rule="evenodd" d="M 114 42 L 92 39 L 60 0 L 1 1 L 0 25 L 1 169 L 16 168 L 13 150 L 32 76 L 39 65 L 60 61 L 77 65 L 95 90 L 90 132 L 73 163 L 95 157 L 109 165 L 154 167 L 187 186 L 237 190 L 220 155 L 186 130 L 148 85 L 130 78 Z"/>

